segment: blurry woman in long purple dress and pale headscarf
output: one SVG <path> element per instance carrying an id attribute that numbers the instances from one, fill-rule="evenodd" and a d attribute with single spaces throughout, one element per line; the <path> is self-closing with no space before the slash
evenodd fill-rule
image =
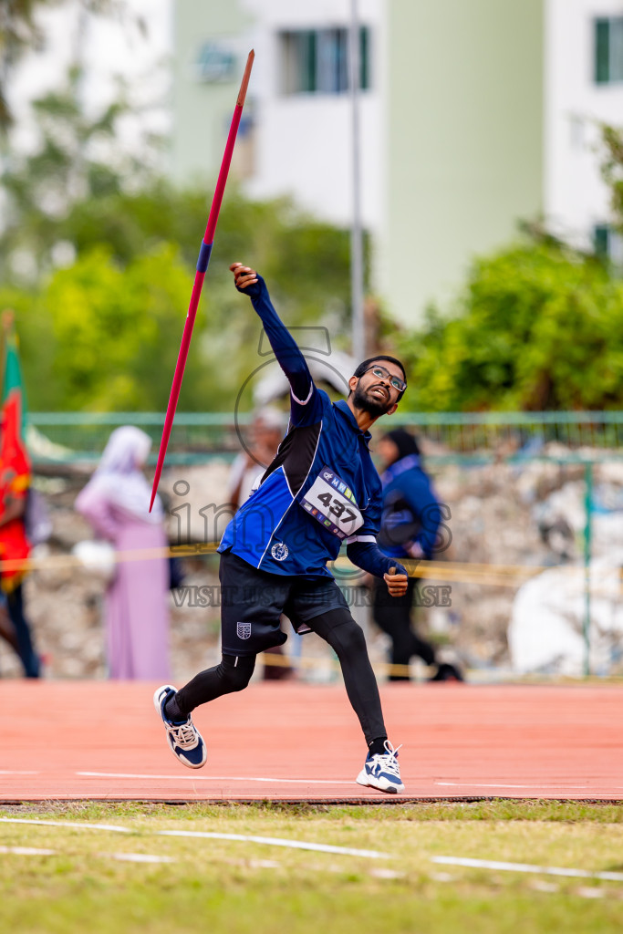
<path id="1" fill-rule="evenodd" d="M 166 681 L 169 669 L 169 562 L 158 497 L 149 513 L 142 473 L 151 446 L 145 432 L 125 425 L 110 435 L 76 508 L 95 533 L 120 552 L 158 552 L 121 559 L 106 592 L 106 654 L 111 678 Z"/>

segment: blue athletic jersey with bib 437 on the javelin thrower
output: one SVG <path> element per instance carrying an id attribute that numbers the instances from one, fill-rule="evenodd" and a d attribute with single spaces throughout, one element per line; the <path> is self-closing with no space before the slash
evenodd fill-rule
<path id="1" fill-rule="evenodd" d="M 290 381 L 290 425 L 219 551 L 231 549 L 267 573 L 330 577 L 327 561 L 346 541 L 348 558 L 364 570 L 382 576 L 395 566 L 405 573 L 376 546 L 382 487 L 368 449 L 370 432 L 361 432 L 345 401 L 332 403 L 314 384 L 262 277 L 240 291 L 251 298 Z"/>

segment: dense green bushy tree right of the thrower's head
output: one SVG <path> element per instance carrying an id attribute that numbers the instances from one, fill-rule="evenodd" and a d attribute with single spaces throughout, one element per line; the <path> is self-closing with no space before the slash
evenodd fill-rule
<path id="1" fill-rule="evenodd" d="M 527 241 L 474 262 L 457 314 L 404 334 L 413 410 L 623 403 L 623 283 L 593 257 Z"/>

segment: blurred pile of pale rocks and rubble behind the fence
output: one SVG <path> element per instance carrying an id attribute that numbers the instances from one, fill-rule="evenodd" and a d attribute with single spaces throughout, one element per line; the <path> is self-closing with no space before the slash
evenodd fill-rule
<path id="1" fill-rule="evenodd" d="M 545 449 L 541 455 L 560 457 Z M 577 452 L 576 452 L 577 453 Z M 590 454 L 590 452 L 585 452 Z M 601 452 L 601 456 L 603 456 Z M 170 541 L 188 537 L 214 540 L 231 515 L 226 507 L 227 462 L 176 468 L 163 477 Z M 451 544 L 439 560 L 460 565 L 552 567 L 581 562 L 586 521 L 582 464 L 527 462 L 491 463 L 477 467 L 432 467 L 435 487 L 449 509 Z M 106 583 L 71 563 L 71 550 L 92 539 L 92 531 L 73 509 L 86 474 L 64 469 L 63 475 L 37 476 L 35 485 L 45 496 L 52 521 L 47 545 L 39 546 L 39 566 L 25 584 L 27 613 L 47 672 L 58 678 L 106 676 L 102 612 Z M 604 553 L 621 536 L 623 523 L 623 463 L 605 462 L 594 468 L 594 546 Z M 46 563 L 65 556 L 67 563 Z M 218 583 L 214 557 L 184 559 L 187 584 Z M 449 565 L 448 565 L 449 567 Z M 470 668 L 496 669 L 509 665 L 507 631 L 520 579 L 509 573 L 495 585 L 474 581 L 451 583 L 451 605 L 422 607 L 419 625 L 445 645 L 447 660 Z M 426 583 L 444 583 L 446 580 Z M 179 602 L 179 600 L 178 600 Z M 170 596 L 171 653 L 174 676 L 181 681 L 219 658 L 219 611 L 210 606 L 177 605 Z M 368 627 L 371 651 L 383 660 L 384 638 Z M 315 639 L 316 637 L 309 637 Z M 304 652 L 314 654 L 304 641 Z M 321 655 L 321 653 L 317 653 Z M 20 673 L 6 644 L 0 643 L 0 673 Z"/>

